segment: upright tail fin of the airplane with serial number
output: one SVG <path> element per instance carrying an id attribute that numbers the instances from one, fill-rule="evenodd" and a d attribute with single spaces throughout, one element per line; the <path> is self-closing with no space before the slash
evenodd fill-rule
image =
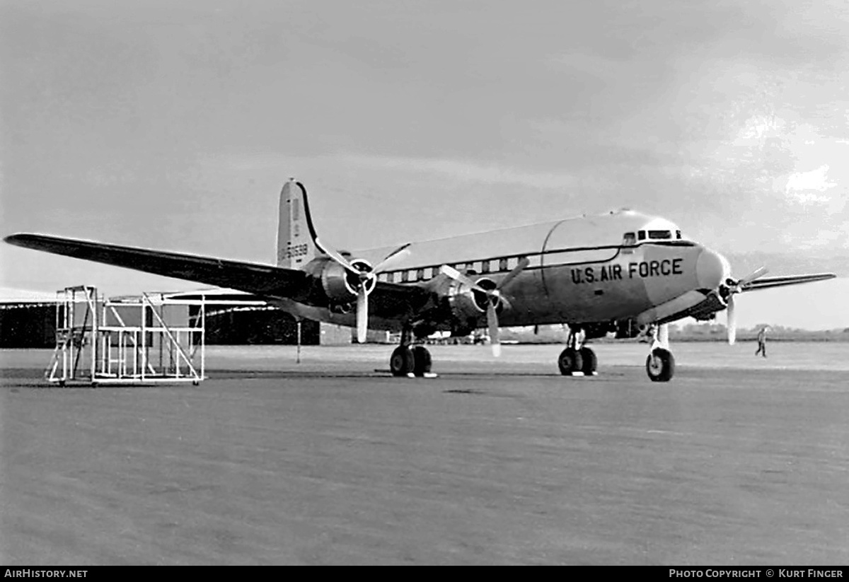
<path id="1" fill-rule="evenodd" d="M 280 191 L 277 266 L 301 269 L 318 255 L 315 239 L 306 188 L 301 182 L 295 182 L 295 178 L 290 178 Z"/>

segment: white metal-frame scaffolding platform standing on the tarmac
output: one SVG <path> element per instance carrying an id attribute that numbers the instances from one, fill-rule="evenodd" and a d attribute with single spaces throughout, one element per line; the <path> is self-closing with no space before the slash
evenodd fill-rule
<path id="1" fill-rule="evenodd" d="M 86 285 L 57 292 L 50 383 L 142 385 L 205 379 L 205 299 L 104 299 Z"/>

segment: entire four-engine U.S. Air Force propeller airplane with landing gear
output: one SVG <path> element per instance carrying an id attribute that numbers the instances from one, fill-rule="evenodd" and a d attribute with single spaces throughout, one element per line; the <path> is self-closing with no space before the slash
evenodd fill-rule
<path id="1" fill-rule="evenodd" d="M 733 344 L 735 294 L 835 277 L 764 277 L 761 268 L 736 279 L 722 255 L 672 222 L 633 210 L 351 254 L 320 241 L 300 182 L 286 182 L 279 211 L 277 266 L 39 234 L 5 241 L 235 289 L 298 318 L 357 327 L 360 342 L 368 327 L 401 332 L 390 358 L 395 376 L 430 375 L 430 353 L 419 340 L 437 331 L 464 336 L 488 327 L 498 355 L 499 326 L 561 323 L 570 329 L 558 358 L 562 374 L 596 373 L 584 340 L 648 329 L 654 341 L 646 372 L 666 382 L 675 369 L 669 322 L 728 310 Z"/>

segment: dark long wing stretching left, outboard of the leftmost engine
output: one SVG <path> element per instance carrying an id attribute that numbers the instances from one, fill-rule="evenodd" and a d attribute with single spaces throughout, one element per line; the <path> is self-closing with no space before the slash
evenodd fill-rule
<path id="1" fill-rule="evenodd" d="M 25 249 L 93 260 L 165 277 L 239 289 L 252 294 L 296 299 L 307 291 L 306 273 L 278 266 L 123 247 L 73 238 L 49 237 L 42 234 L 14 234 L 4 240 Z"/>

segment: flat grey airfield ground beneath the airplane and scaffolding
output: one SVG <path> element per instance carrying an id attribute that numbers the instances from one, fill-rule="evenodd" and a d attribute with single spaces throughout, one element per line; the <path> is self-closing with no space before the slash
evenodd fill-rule
<path id="1" fill-rule="evenodd" d="M 751 348 L 751 349 L 750 349 Z M 0 350 L 0 562 L 849 563 L 849 344 L 209 348 L 210 379 L 45 387 Z M 375 371 L 380 370 L 380 371 Z"/>

